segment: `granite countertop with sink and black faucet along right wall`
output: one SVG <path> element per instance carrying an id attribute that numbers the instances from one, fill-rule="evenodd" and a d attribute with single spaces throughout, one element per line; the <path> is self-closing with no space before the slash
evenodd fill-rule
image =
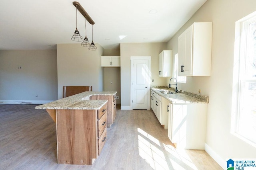
<path id="1" fill-rule="evenodd" d="M 178 92 L 176 93 L 173 88 L 167 88 L 167 87 L 157 87 L 153 86 L 151 87 L 151 90 L 159 94 L 161 97 L 166 98 L 170 101 L 172 104 L 207 104 L 209 103 L 209 97 L 203 96 L 200 94 L 194 94 L 190 92 Z M 160 91 L 170 91 L 174 94 L 163 94 Z"/>

